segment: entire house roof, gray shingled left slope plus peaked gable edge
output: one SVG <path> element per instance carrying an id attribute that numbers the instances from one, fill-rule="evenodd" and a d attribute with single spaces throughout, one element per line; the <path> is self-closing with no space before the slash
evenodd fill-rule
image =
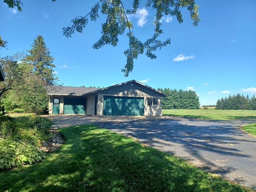
<path id="1" fill-rule="evenodd" d="M 106 88 L 84 88 L 84 87 L 67 87 L 67 86 L 49 86 L 48 90 L 47 90 L 47 94 L 48 95 L 59 95 L 59 96 L 86 96 L 89 94 L 93 94 L 93 93 L 97 93 L 100 92 L 102 90 L 106 90 L 106 89 L 110 89 L 110 88 L 114 88 L 116 86 L 120 86 L 120 85 L 124 85 L 124 84 L 130 84 L 130 83 L 137 83 L 140 84 L 142 86 L 145 86 L 146 88 L 150 89 L 150 90 L 154 90 L 155 92 L 158 92 L 159 94 L 161 94 L 161 96 L 166 97 L 168 95 L 150 87 L 147 86 L 145 84 L 142 84 L 141 82 L 138 82 L 136 80 L 130 80 L 124 83 L 120 83 L 120 84 L 116 84 L 113 86 L 109 86 Z"/>

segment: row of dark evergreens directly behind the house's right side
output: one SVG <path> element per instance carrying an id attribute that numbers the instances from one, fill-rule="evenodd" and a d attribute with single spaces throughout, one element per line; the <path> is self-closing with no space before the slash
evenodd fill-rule
<path id="1" fill-rule="evenodd" d="M 199 109 L 199 97 L 196 92 L 189 90 L 183 91 L 170 88 L 158 88 L 159 91 L 168 95 L 162 98 L 163 109 Z"/>

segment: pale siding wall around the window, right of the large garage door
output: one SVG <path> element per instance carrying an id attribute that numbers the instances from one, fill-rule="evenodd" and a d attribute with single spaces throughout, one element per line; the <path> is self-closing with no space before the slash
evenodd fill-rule
<path id="1" fill-rule="evenodd" d="M 156 97 L 144 98 L 144 116 L 161 116 L 162 115 L 162 98 L 158 97 L 157 106 L 148 106 L 148 98 L 156 98 Z"/>

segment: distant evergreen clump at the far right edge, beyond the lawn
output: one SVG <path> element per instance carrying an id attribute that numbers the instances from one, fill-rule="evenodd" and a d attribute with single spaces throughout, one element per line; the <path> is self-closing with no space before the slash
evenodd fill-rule
<path id="1" fill-rule="evenodd" d="M 235 110 L 256 110 L 256 98 L 244 94 L 229 95 L 228 98 L 218 99 L 216 102 L 216 109 L 235 109 Z"/>

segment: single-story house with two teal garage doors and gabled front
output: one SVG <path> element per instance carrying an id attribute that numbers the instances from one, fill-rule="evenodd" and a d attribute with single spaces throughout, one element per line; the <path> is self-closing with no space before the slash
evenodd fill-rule
<path id="1" fill-rule="evenodd" d="M 162 115 L 166 94 L 136 80 L 106 88 L 50 86 L 49 114 Z"/>

